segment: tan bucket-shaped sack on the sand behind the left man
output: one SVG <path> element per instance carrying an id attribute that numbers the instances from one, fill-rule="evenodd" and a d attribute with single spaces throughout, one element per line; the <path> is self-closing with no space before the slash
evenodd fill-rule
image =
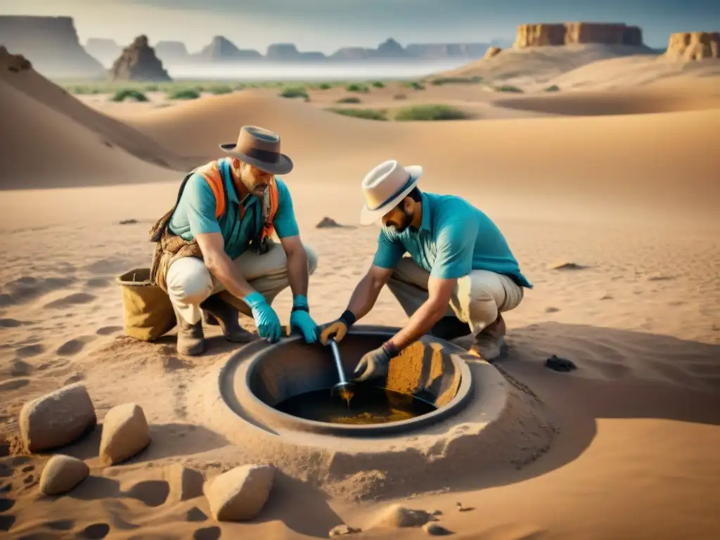
<path id="1" fill-rule="evenodd" d="M 170 298 L 150 282 L 149 268 L 136 268 L 117 276 L 122 290 L 125 333 L 142 341 L 154 341 L 174 328 L 177 321 Z"/>

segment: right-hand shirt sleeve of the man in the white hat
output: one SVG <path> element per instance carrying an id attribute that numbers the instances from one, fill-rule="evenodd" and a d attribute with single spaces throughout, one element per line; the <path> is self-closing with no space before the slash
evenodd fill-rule
<path id="1" fill-rule="evenodd" d="M 468 220 L 453 220 L 442 225 L 436 237 L 436 257 L 430 275 L 457 279 L 472 270 L 477 227 Z"/>

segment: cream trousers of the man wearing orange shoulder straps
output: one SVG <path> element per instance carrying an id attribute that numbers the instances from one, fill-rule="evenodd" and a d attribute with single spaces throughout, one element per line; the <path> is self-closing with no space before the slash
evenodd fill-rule
<path id="1" fill-rule="evenodd" d="M 307 254 L 307 272 L 312 274 L 318 268 L 318 256 L 310 246 L 305 246 Z M 269 251 L 258 255 L 246 251 L 233 263 L 251 284 L 251 287 L 265 297 L 269 304 L 283 289 L 289 287 L 287 277 L 287 256 L 279 243 L 271 243 Z M 197 257 L 179 258 L 168 268 L 166 276 L 168 296 L 189 324 L 197 323 L 202 318 L 200 304 L 212 294 L 225 291 L 225 286 Z M 242 300 L 232 303 L 240 312 L 251 316 L 250 308 Z"/>

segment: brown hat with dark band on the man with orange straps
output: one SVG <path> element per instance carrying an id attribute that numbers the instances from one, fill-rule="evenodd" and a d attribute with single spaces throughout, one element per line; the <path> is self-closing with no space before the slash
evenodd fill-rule
<path id="1" fill-rule="evenodd" d="M 287 174 L 292 171 L 292 160 L 280 153 L 280 136 L 263 127 L 243 126 L 237 143 L 222 144 L 220 148 L 266 173 Z"/>

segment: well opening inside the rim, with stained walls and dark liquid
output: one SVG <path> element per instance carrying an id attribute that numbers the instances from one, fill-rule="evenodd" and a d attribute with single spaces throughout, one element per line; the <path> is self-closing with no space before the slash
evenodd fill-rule
<path id="1" fill-rule="evenodd" d="M 346 378 L 351 380 L 367 351 L 391 335 L 387 330 L 351 330 L 338 345 Z M 305 420 L 316 428 L 370 429 L 434 421 L 469 392 L 469 369 L 456 356 L 459 352 L 451 343 L 425 337 L 390 361 L 387 377 L 355 384 L 354 396 L 346 402 L 331 390 L 338 383 L 331 349 L 289 339 L 258 351 L 246 384 L 284 424 Z"/>

